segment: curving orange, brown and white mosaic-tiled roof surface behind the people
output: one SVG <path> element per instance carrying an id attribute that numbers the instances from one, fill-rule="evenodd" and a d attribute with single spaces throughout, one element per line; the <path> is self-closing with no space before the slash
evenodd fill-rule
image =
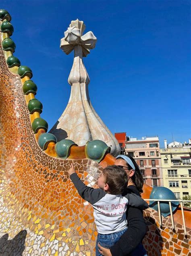
<path id="1" fill-rule="evenodd" d="M 114 157 L 107 154 L 98 164 L 85 159 L 84 147 L 73 146 L 69 159 L 58 159 L 49 156 L 54 144 L 42 152 L 35 137 L 44 130 L 33 134 L 21 79 L 10 73 L 1 46 L 0 58 L 0 254 L 95 255 L 93 210 L 79 197 L 66 170 L 73 162 L 81 179 L 96 187 L 103 167 Z M 144 187 L 144 198 L 151 189 Z M 179 213 L 174 214 L 174 233 L 170 217 L 162 218 L 163 230 L 158 212 L 145 211 L 148 256 L 189 255 L 191 214 L 185 213 L 185 237 Z"/>

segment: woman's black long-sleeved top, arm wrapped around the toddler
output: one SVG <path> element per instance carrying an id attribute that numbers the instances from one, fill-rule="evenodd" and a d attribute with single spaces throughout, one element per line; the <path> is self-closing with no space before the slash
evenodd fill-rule
<path id="1" fill-rule="evenodd" d="M 139 195 L 139 191 L 133 185 L 127 187 L 129 191 Z M 143 240 L 146 233 L 146 223 L 143 219 L 143 212 L 138 208 L 128 207 L 127 209 L 128 229 L 120 237 L 119 241 L 110 248 L 112 256 L 128 256 Z"/>

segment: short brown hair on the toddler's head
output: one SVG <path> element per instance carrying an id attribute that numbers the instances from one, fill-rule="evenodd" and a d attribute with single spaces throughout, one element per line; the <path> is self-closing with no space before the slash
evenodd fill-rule
<path id="1" fill-rule="evenodd" d="M 102 171 L 112 195 L 120 195 L 127 188 L 127 173 L 117 165 L 110 165 Z"/>

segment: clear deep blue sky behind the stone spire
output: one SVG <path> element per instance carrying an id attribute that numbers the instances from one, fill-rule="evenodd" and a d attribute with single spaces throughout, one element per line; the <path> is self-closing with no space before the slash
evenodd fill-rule
<path id="1" fill-rule="evenodd" d="M 93 107 L 114 132 L 163 140 L 191 137 L 191 2 L 166 0 L 1 0 L 15 29 L 14 55 L 33 71 L 41 117 L 51 128 L 64 111 L 73 63 L 60 50 L 71 20 L 93 31 L 84 58 Z"/>

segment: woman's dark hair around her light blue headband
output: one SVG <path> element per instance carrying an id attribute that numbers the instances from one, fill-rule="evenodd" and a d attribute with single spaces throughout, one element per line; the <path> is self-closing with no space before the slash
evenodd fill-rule
<path id="1" fill-rule="evenodd" d="M 133 164 L 135 165 L 135 173 L 131 177 L 131 180 L 135 184 L 135 187 L 137 188 L 139 193 L 142 193 L 143 192 L 142 187 L 143 187 L 144 180 L 143 180 L 143 175 L 142 175 L 142 173 L 139 169 L 139 165 L 137 164 L 137 162 L 135 161 L 135 159 L 132 156 L 129 156 L 129 155 L 126 155 L 126 156 L 128 156 L 131 159 L 131 161 L 133 162 Z M 124 160 L 122 157 L 119 157 L 117 159 Z M 127 164 L 127 167 L 128 167 L 129 170 L 133 169 L 131 167 L 131 165 L 129 165 L 127 162 L 126 162 L 126 164 Z"/>

